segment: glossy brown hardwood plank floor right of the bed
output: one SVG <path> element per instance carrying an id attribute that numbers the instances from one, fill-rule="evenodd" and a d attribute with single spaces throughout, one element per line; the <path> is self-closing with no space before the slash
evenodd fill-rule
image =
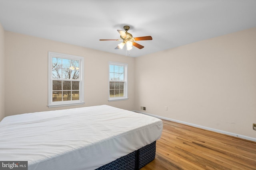
<path id="1" fill-rule="evenodd" d="M 256 142 L 163 120 L 156 158 L 141 170 L 256 170 Z"/>

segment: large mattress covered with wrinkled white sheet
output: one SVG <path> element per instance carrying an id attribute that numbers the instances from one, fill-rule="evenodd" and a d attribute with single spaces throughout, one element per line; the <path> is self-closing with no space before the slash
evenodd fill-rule
<path id="1" fill-rule="evenodd" d="M 94 170 L 161 133 L 160 119 L 107 105 L 13 115 L 0 122 L 0 160 L 28 161 L 28 170 Z"/>

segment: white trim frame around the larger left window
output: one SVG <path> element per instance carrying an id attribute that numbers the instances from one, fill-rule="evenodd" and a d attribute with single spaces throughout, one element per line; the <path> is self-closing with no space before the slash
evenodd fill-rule
<path id="1" fill-rule="evenodd" d="M 63 59 L 76 59 L 79 60 L 79 78 L 80 78 L 80 100 L 78 101 L 62 101 L 62 102 L 52 102 L 52 57 L 58 57 Z M 84 104 L 84 57 L 76 55 L 68 55 L 62 53 L 48 52 L 48 107 L 62 107 L 62 106 L 73 106 Z M 62 79 L 60 79 L 62 80 Z"/>

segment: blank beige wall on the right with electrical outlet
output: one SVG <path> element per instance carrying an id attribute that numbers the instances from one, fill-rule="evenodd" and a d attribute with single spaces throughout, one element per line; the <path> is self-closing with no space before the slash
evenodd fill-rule
<path id="1" fill-rule="evenodd" d="M 256 28 L 135 59 L 135 109 L 256 138 Z M 165 111 L 168 106 L 168 111 Z"/>

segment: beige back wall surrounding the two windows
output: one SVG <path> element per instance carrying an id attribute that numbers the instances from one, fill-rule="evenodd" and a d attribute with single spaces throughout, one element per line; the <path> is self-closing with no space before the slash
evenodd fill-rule
<path id="1" fill-rule="evenodd" d="M 48 108 L 48 51 L 84 57 L 85 104 Z M 134 61 L 111 53 L 5 31 L 7 115 L 108 104 L 134 109 Z M 108 102 L 108 61 L 128 63 L 128 100 Z"/>

